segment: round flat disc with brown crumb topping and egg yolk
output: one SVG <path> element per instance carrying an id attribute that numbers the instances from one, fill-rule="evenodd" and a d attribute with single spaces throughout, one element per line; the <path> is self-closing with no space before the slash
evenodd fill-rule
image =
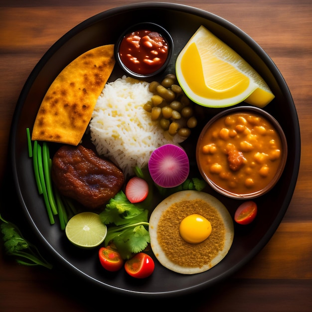
<path id="1" fill-rule="evenodd" d="M 150 217 L 151 248 L 167 269 L 196 274 L 217 265 L 228 253 L 234 225 L 226 207 L 205 192 L 176 192 Z"/>

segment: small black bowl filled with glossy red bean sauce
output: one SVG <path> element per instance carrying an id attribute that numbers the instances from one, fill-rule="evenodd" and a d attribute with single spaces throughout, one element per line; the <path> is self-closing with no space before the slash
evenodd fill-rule
<path id="1" fill-rule="evenodd" d="M 135 78 L 149 78 L 167 67 L 173 52 L 173 40 L 162 26 L 143 22 L 127 28 L 115 45 L 115 59 Z"/>

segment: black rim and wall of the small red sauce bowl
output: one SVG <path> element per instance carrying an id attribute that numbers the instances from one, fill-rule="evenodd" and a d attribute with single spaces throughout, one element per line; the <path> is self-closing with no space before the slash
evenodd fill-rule
<path id="1" fill-rule="evenodd" d="M 120 55 L 120 46 L 123 41 L 123 39 L 128 35 L 131 34 L 134 31 L 140 31 L 140 30 L 149 30 L 151 32 L 157 32 L 160 34 L 160 36 L 164 39 L 164 41 L 167 44 L 168 47 L 168 52 L 167 52 L 167 58 L 164 61 L 164 63 L 161 65 L 161 67 L 156 68 L 156 70 L 149 72 L 149 73 L 140 73 L 136 72 L 134 70 L 129 69 L 123 62 L 122 57 Z M 143 23 L 138 23 L 135 24 L 129 28 L 127 28 L 122 35 L 118 38 L 117 43 L 115 44 L 115 59 L 117 64 L 130 76 L 138 79 L 143 79 L 143 78 L 150 78 L 153 76 L 156 76 L 157 74 L 161 73 L 162 71 L 165 70 L 167 67 L 170 58 L 172 56 L 173 52 L 173 40 L 169 32 L 164 29 L 162 26 L 152 23 L 152 22 L 143 22 Z"/>

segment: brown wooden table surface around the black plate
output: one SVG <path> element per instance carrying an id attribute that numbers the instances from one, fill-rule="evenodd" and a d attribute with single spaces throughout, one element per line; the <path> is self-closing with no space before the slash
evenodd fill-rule
<path id="1" fill-rule="evenodd" d="M 0 2 L 0 178 L 10 185 L 9 129 L 19 93 L 33 67 L 63 34 L 107 9 L 139 0 L 2 0 Z M 168 2 L 168 1 L 164 1 Z M 173 1 L 172 1 L 173 2 Z M 220 285 L 167 300 L 116 298 L 85 289 L 61 268 L 24 267 L 0 256 L 0 311 L 312 311 L 312 2 L 311 0 L 180 0 L 237 25 L 268 53 L 292 93 L 301 126 L 296 189 L 276 233 L 244 268 Z M 11 186 L 10 186 L 11 187 Z M 0 209 L 14 214 L 14 190 Z M 15 216 L 16 217 L 16 216 Z M 22 223 L 22 220 L 20 220 Z M 21 224 L 27 229 L 27 225 Z M 1 251 L 3 248 L 1 246 Z M 126 302 L 121 306 L 122 302 Z M 99 308 L 97 308 L 99 307 Z M 127 310 L 125 310 L 127 311 Z"/>

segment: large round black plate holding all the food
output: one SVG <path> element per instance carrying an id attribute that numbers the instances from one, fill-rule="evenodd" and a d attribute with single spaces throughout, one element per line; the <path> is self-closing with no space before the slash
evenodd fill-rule
<path id="1" fill-rule="evenodd" d="M 204 25 L 236 50 L 265 79 L 276 98 L 265 108 L 281 124 L 288 142 L 288 160 L 276 186 L 257 199 L 259 212 L 249 226 L 235 225 L 233 245 L 228 255 L 212 269 L 197 275 L 175 274 L 156 261 L 154 274 L 134 280 L 121 270 L 110 274 L 99 264 L 97 250 L 77 250 L 66 239 L 58 224 L 50 225 L 43 199 L 37 194 L 32 159 L 28 157 L 26 128 L 32 129 L 38 108 L 58 73 L 83 52 L 115 43 L 130 25 L 151 21 L 166 28 L 173 37 L 174 52 L 167 71 L 174 72 L 177 54 L 200 25 Z M 115 68 L 110 80 L 121 77 Z M 205 122 L 219 110 L 206 110 Z M 196 141 L 196 140 L 194 140 Z M 296 108 L 280 71 L 263 49 L 235 25 L 209 12 L 173 3 L 138 3 L 110 9 L 80 23 L 61 37 L 35 66 L 21 91 L 11 128 L 10 153 L 17 194 L 29 229 L 55 262 L 83 282 L 123 294 L 173 296 L 210 287 L 229 277 L 250 261 L 270 240 L 291 201 L 300 163 L 300 129 Z M 192 143 L 191 143 L 192 144 Z M 194 148 L 195 151 L 195 142 Z M 195 156 L 192 158 L 195 161 Z M 210 192 L 228 207 L 231 215 L 239 202 Z"/>

